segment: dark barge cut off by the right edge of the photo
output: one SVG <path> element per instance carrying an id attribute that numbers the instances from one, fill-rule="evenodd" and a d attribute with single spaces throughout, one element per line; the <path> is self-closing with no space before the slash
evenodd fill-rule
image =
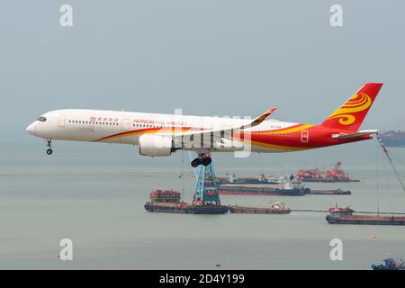
<path id="1" fill-rule="evenodd" d="M 347 208 L 329 208 L 326 220 L 329 224 L 362 224 L 362 225 L 405 225 L 405 216 L 382 216 L 380 214 L 357 214 Z"/>

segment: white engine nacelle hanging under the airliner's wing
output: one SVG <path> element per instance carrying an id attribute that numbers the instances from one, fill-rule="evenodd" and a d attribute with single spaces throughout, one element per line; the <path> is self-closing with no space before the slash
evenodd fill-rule
<path id="1" fill-rule="evenodd" d="M 171 138 L 144 134 L 139 137 L 139 154 L 148 157 L 170 156 L 175 151 Z"/>

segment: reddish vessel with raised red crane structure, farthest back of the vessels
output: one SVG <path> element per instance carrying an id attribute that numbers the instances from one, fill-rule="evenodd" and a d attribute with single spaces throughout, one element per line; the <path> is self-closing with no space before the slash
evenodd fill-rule
<path id="1" fill-rule="evenodd" d="M 338 162 L 333 168 L 322 171 L 319 168 L 314 169 L 300 169 L 295 174 L 295 177 L 302 182 L 359 182 L 360 180 L 351 179 L 349 175 L 342 169 L 342 162 Z"/>

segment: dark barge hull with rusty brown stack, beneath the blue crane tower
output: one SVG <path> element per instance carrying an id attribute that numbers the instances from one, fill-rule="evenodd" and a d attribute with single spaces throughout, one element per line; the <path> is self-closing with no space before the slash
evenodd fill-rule
<path id="1" fill-rule="evenodd" d="M 185 213 L 185 214 L 225 214 L 229 207 L 216 202 L 200 204 L 182 202 L 181 193 L 173 190 L 156 190 L 149 194 L 145 210 L 149 212 Z"/>

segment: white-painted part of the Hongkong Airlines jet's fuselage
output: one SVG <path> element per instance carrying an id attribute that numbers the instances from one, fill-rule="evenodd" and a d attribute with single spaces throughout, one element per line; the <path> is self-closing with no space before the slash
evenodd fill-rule
<path id="1" fill-rule="evenodd" d="M 244 125 L 248 119 L 186 116 L 143 112 L 67 109 L 43 114 L 41 121 L 31 123 L 27 130 L 43 139 L 98 141 L 104 143 L 139 144 L 143 134 L 186 134 L 191 131 L 230 129 Z M 45 121 L 44 121 L 45 120 Z M 250 120 L 251 121 L 251 120 Z M 263 121 L 246 131 L 280 130 L 296 123 Z M 216 149 L 220 151 L 220 149 Z M 226 149 L 229 151 L 229 149 Z M 278 148 L 252 146 L 254 152 L 282 152 Z"/>

